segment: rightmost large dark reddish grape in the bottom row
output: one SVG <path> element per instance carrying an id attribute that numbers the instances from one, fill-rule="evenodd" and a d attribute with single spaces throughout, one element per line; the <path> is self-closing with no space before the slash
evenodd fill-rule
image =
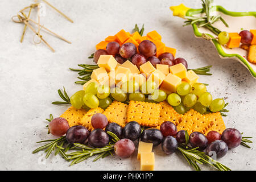
<path id="1" fill-rule="evenodd" d="M 221 139 L 226 142 L 229 148 L 236 148 L 240 146 L 242 135 L 237 129 L 226 129 L 221 134 Z"/>

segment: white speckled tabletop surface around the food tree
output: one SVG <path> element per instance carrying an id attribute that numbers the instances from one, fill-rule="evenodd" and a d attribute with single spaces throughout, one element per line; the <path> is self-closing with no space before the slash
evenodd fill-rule
<path id="1" fill-rule="evenodd" d="M 19 42 L 23 24 L 13 23 L 11 16 L 30 0 L 1 0 L 0 11 L 0 169 L 2 170 L 138 170 L 135 154 L 129 159 L 117 156 L 92 162 L 86 160 L 69 167 L 60 156 L 44 160 L 31 152 L 39 145 L 36 141 L 51 138 L 47 135 L 44 120 L 50 113 L 59 116 L 67 106 L 52 105 L 59 100 L 57 89 L 65 86 L 69 95 L 81 89 L 73 82 L 77 73 L 68 68 L 77 64 L 92 63 L 87 57 L 94 52 L 96 43 L 122 28 L 131 31 L 135 23 L 145 24 L 145 33 L 157 30 L 163 42 L 177 48 L 177 56 L 184 57 L 189 68 L 213 65 L 212 76 L 201 76 L 208 83 L 213 97 L 225 97 L 229 102 L 227 127 L 236 127 L 247 136 L 255 138 L 256 81 L 236 60 L 220 59 L 213 45 L 193 36 L 192 28 L 182 27 L 183 20 L 172 16 L 169 6 L 181 1 L 51 1 L 70 16 L 70 23 L 52 9 L 47 8 L 44 26 L 71 40 L 67 44 L 47 34 L 45 38 L 55 48 L 52 53 L 44 44 L 35 46 L 32 33 L 26 32 L 24 42 Z M 64 3 L 65 2 L 65 3 Z M 186 6 L 200 8 L 201 1 L 182 1 Z M 215 1 L 233 11 L 255 11 L 256 1 Z M 35 14 L 32 14 L 35 17 Z M 239 22 L 237 22 L 239 23 Z M 253 139 L 254 140 L 254 139 Z M 251 149 L 238 147 L 230 150 L 221 163 L 236 170 L 256 168 L 255 144 Z M 191 170 L 180 154 L 166 156 L 160 146 L 154 149 L 156 170 Z M 40 153 L 42 155 L 42 153 Z M 43 159 L 43 162 L 40 162 Z M 204 167 L 203 169 L 210 169 Z"/>

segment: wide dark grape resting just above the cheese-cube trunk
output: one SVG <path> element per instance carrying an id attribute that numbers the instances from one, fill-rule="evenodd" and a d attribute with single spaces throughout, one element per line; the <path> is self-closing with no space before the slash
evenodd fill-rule
<path id="1" fill-rule="evenodd" d="M 153 143 L 153 146 L 158 146 L 163 140 L 163 134 L 158 129 L 147 129 L 141 134 L 142 142 Z"/>

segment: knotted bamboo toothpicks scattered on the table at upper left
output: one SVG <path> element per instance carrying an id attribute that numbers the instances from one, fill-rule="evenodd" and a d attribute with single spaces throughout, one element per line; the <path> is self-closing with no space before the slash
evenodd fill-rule
<path id="1" fill-rule="evenodd" d="M 69 22 L 73 23 L 73 20 L 68 18 L 67 15 L 65 15 L 64 13 L 62 13 L 60 10 L 56 9 L 56 7 L 54 7 L 53 5 L 51 5 L 49 2 L 47 2 L 46 0 L 42 0 L 42 2 L 44 2 L 46 5 L 48 5 L 49 7 L 51 7 L 53 10 L 57 11 L 57 13 L 59 13 L 60 15 L 62 15 L 64 18 L 68 19 Z M 34 35 L 34 43 L 35 44 L 40 44 L 41 42 L 45 43 L 51 50 L 52 52 L 55 52 L 55 50 L 46 42 L 46 40 L 43 38 L 43 35 L 40 33 L 41 29 L 44 29 L 46 31 L 48 31 L 50 34 L 56 36 L 57 38 L 64 40 L 65 42 L 71 44 L 71 42 L 69 42 L 67 39 L 64 39 L 62 36 L 56 34 L 55 32 L 49 30 L 48 28 L 44 27 L 42 24 L 40 24 L 40 12 L 42 11 L 42 2 L 38 2 L 38 0 L 35 0 L 35 3 L 31 4 L 30 6 L 26 6 L 24 7 L 22 10 L 20 10 L 18 12 L 17 15 L 13 16 L 11 19 L 13 20 L 13 22 L 15 23 L 23 23 L 24 24 L 24 28 L 23 28 L 23 32 L 22 32 L 22 36 L 20 38 L 20 42 L 23 42 L 23 38 L 25 35 L 25 32 L 27 30 L 27 27 L 30 28 L 32 30 L 32 32 L 35 33 Z M 44 6 L 45 7 L 45 6 Z M 30 18 L 31 15 L 31 11 L 32 9 L 36 9 L 37 11 L 37 20 L 33 20 Z M 28 10 L 28 14 L 24 13 L 25 10 Z M 35 26 L 37 26 L 37 30 L 36 28 L 34 28 L 34 26 L 32 26 L 32 24 L 34 24 Z M 39 42 L 35 41 L 35 37 L 39 38 Z"/>

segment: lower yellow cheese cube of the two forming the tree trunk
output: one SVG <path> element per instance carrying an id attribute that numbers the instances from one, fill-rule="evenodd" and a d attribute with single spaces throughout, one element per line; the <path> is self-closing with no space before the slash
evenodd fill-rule
<path id="1" fill-rule="evenodd" d="M 155 154 L 154 152 L 150 153 L 141 153 L 141 171 L 154 171 L 155 168 Z"/>

